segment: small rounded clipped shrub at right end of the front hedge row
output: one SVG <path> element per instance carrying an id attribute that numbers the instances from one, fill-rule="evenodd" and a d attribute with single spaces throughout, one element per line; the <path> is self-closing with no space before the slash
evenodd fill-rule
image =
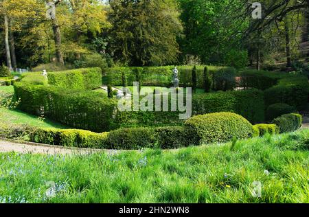
<path id="1" fill-rule="evenodd" d="M 298 130 L 301 127 L 303 120 L 299 114 L 286 114 L 277 117 L 273 120 L 273 124 L 276 124 L 279 128 L 279 133 L 287 133 Z"/>

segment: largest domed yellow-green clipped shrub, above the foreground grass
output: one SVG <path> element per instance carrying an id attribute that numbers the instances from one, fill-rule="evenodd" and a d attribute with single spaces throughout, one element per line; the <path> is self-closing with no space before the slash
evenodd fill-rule
<path id="1" fill-rule="evenodd" d="M 236 137 L 253 137 L 253 126 L 244 117 L 235 113 L 211 113 L 197 115 L 185 122 L 185 133 L 192 145 L 227 142 Z"/>

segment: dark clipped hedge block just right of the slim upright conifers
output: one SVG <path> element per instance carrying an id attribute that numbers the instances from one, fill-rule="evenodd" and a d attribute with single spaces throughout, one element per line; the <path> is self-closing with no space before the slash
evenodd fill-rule
<path id="1" fill-rule="evenodd" d="M 214 90 L 229 91 L 236 87 L 236 69 L 226 68 L 220 69 L 213 74 Z"/>

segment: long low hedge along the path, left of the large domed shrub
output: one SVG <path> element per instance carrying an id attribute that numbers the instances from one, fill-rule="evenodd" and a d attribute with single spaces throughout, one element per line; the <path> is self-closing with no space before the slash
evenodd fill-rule
<path id="1" fill-rule="evenodd" d="M 185 146 L 183 127 L 122 128 L 109 133 L 87 130 L 38 128 L 30 141 L 55 146 L 137 150 L 141 148 L 180 148 Z"/>

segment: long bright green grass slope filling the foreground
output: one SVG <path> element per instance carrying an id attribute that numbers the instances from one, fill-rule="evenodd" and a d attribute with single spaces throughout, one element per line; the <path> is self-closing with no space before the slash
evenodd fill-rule
<path id="1" fill-rule="evenodd" d="M 238 141 L 233 148 L 5 153 L 0 202 L 309 203 L 308 145 L 309 130 L 299 130 Z"/>

